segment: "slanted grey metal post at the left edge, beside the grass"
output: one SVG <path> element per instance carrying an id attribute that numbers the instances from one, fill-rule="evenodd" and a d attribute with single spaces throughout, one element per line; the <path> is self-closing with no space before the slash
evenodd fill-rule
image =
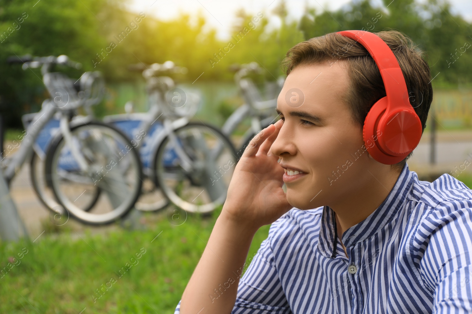
<path id="1" fill-rule="evenodd" d="M 20 229 L 23 230 L 23 234 Z M 28 237 L 25 224 L 18 215 L 17 207 L 10 197 L 7 181 L 0 168 L 0 238 L 6 241 L 17 241 L 22 235 Z"/>

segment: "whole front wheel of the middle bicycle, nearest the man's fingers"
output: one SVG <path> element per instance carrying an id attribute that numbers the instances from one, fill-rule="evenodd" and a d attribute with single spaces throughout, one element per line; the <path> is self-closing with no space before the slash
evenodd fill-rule
<path id="1" fill-rule="evenodd" d="M 171 202 L 208 213 L 226 200 L 236 149 L 219 129 L 190 122 L 163 139 L 152 165 L 156 185 Z"/>

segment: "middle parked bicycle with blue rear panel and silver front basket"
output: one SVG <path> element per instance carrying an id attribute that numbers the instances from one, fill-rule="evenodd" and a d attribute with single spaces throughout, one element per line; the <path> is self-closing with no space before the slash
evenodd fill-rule
<path id="1" fill-rule="evenodd" d="M 149 111 L 107 116 L 103 121 L 114 123 L 130 138 L 136 138 L 138 145 L 143 141 L 140 153 L 144 174 L 153 186 L 144 184 L 147 191 L 136 202 L 136 208 L 159 210 L 172 202 L 189 212 L 213 211 L 226 200 L 234 169 L 224 166 L 236 163 L 234 145 L 211 124 L 190 121 L 200 99 L 177 88 L 168 76 L 182 72 L 183 68 L 166 61 L 135 64 L 130 70 L 142 71 Z M 140 134 L 143 136 L 138 140 Z M 220 180 L 221 167 L 225 176 Z M 158 189 L 162 198 L 156 193 Z M 160 200 L 148 203 L 143 200 L 153 195 Z"/>

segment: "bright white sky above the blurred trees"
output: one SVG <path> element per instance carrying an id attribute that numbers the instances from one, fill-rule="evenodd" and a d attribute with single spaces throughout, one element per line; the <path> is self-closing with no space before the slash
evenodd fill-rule
<path id="1" fill-rule="evenodd" d="M 395 0 L 394 0 L 395 1 Z M 418 2 L 425 2 L 419 0 Z M 445 0 L 434 0 L 439 6 L 444 5 Z M 287 0 L 288 15 L 290 18 L 299 19 L 306 8 L 318 10 L 336 10 L 349 4 L 352 0 Z M 472 22 L 472 0 L 448 0 L 452 12 L 460 14 L 469 22 Z M 258 12 L 270 12 L 280 3 L 280 0 L 130 0 L 129 10 L 133 12 L 145 12 L 159 19 L 168 20 L 185 12 L 191 15 L 202 12 L 206 17 L 209 27 L 217 29 L 219 39 L 229 37 L 230 27 L 235 20 L 235 12 L 244 8 L 246 12 L 256 15 Z M 371 0 L 373 6 L 383 7 L 380 0 Z M 277 27 L 279 20 L 272 16 L 269 25 Z"/>

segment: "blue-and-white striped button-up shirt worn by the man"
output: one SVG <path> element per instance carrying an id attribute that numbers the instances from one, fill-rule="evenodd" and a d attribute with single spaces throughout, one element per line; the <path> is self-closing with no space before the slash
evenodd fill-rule
<path id="1" fill-rule="evenodd" d="M 231 314 L 472 313 L 472 191 L 455 177 L 420 181 L 406 164 L 342 243 L 349 258 L 328 206 L 290 209 L 240 279 Z"/>

